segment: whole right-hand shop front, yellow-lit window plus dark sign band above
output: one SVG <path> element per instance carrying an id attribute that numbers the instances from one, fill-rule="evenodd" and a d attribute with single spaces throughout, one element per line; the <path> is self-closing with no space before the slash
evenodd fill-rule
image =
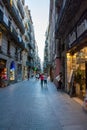
<path id="1" fill-rule="evenodd" d="M 84 99 L 87 89 L 87 11 L 68 34 L 66 42 L 67 91 Z"/>

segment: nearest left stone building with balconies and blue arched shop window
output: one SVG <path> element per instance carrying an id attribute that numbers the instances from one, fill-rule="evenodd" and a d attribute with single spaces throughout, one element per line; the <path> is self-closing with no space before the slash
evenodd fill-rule
<path id="1" fill-rule="evenodd" d="M 17 81 L 22 70 L 24 1 L 0 1 L 0 74 L 9 82 Z"/>

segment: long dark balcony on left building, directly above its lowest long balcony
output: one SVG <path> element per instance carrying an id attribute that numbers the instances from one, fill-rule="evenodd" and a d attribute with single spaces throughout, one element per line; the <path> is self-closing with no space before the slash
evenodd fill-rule
<path id="1" fill-rule="evenodd" d="M 20 28 L 21 33 L 24 34 L 25 28 L 24 28 L 22 19 L 20 18 L 20 15 L 19 15 L 18 10 L 15 7 L 14 3 L 11 3 L 10 0 L 3 0 L 3 3 L 5 4 L 7 10 L 9 11 L 13 20 L 17 24 L 18 28 Z"/>

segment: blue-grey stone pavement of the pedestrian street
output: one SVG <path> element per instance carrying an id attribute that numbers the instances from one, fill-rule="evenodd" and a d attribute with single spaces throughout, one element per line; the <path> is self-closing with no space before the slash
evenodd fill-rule
<path id="1" fill-rule="evenodd" d="M 87 130 L 87 114 L 52 83 L 30 79 L 0 88 L 0 130 Z"/>

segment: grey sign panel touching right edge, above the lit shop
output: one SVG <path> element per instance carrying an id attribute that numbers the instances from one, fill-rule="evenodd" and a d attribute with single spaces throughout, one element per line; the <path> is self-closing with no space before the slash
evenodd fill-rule
<path id="1" fill-rule="evenodd" d="M 77 26 L 77 37 L 79 37 L 86 30 L 87 30 L 87 20 L 84 19 L 84 21 L 79 26 Z"/>

